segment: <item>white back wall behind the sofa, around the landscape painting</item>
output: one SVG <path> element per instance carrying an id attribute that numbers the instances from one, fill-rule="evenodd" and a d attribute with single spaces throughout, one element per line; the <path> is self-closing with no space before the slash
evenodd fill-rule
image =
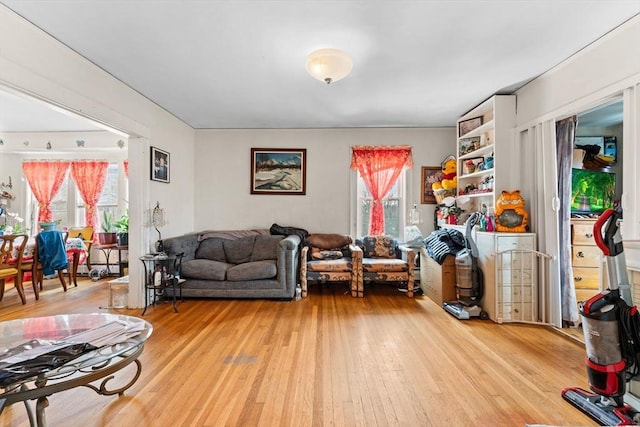
<path id="1" fill-rule="evenodd" d="M 277 223 L 316 233 L 349 233 L 354 145 L 411 145 L 409 202 L 433 230 L 435 205 L 420 205 L 420 167 L 455 153 L 455 128 L 197 130 L 195 229 L 269 228 Z M 250 194 L 251 148 L 306 148 L 305 196 Z"/>

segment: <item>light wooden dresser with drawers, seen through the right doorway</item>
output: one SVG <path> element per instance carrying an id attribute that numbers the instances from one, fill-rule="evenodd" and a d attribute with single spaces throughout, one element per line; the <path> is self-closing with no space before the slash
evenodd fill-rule
<path id="1" fill-rule="evenodd" d="M 571 265 L 578 302 L 600 292 L 602 251 L 593 238 L 595 219 L 571 219 Z"/>

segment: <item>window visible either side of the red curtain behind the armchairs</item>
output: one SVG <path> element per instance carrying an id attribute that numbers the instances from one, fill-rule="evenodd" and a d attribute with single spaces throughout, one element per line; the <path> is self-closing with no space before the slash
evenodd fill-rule
<path id="1" fill-rule="evenodd" d="M 371 193 L 367 190 L 367 186 L 364 184 L 359 172 L 355 172 L 357 175 L 356 183 L 356 236 L 364 236 L 369 234 L 369 215 L 371 212 L 371 205 L 373 199 Z M 404 218 L 405 218 L 405 200 L 406 200 L 406 181 L 407 171 L 405 170 L 400 174 L 398 180 L 393 185 L 389 194 L 382 200 L 382 206 L 384 209 L 384 230 L 385 234 L 392 236 L 396 239 L 402 240 L 404 238 Z"/>

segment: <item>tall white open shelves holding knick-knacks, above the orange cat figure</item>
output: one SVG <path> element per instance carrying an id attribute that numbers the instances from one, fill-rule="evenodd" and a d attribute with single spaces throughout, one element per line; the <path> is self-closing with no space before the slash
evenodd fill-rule
<path id="1" fill-rule="evenodd" d="M 468 213 L 482 205 L 493 209 L 502 190 L 513 190 L 515 112 L 514 95 L 494 95 L 458 119 L 458 196 L 470 198 Z M 479 126 L 464 132 L 465 124 L 474 120 Z"/>

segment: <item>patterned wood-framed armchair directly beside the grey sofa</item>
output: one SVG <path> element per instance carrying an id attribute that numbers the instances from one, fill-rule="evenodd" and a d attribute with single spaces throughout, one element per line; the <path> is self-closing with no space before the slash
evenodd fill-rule
<path id="1" fill-rule="evenodd" d="M 351 296 L 362 297 L 360 270 L 362 251 L 351 236 L 343 234 L 310 234 L 300 252 L 300 285 L 307 296 L 307 283 L 347 282 Z"/>

